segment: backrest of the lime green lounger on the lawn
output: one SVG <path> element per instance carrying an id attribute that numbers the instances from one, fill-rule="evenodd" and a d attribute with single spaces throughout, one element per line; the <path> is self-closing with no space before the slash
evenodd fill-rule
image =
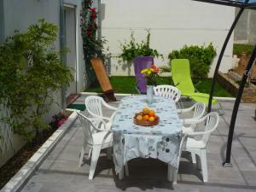
<path id="1" fill-rule="evenodd" d="M 195 87 L 191 80 L 188 59 L 173 59 L 171 61 L 172 81 L 181 93 L 194 93 Z"/>

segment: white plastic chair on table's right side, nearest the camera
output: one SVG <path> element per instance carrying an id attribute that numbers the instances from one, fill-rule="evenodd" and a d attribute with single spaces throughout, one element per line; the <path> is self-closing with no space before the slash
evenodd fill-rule
<path id="1" fill-rule="evenodd" d="M 212 131 L 218 127 L 218 113 L 212 112 L 208 113 L 205 117 L 201 119 L 194 119 L 194 123 L 198 124 L 205 122 L 204 131 L 194 131 L 186 133 L 183 137 L 185 143 L 181 143 L 180 151 L 177 158 L 177 163 L 179 166 L 179 160 L 182 151 L 188 151 L 193 154 L 197 154 L 200 158 L 201 165 L 197 161 L 198 168 L 201 168 L 203 181 L 208 181 L 208 171 L 207 171 L 207 143 L 211 136 Z M 197 140 L 195 137 L 201 136 L 201 139 Z M 177 183 L 177 170 L 172 172 L 172 167 L 168 166 L 168 178 L 173 178 L 173 183 Z M 171 175 L 172 174 L 172 175 Z M 173 177 L 172 177 L 173 176 Z"/>

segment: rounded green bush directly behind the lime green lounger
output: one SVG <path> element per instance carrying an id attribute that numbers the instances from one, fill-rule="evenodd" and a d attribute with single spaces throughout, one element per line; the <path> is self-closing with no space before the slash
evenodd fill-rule
<path id="1" fill-rule="evenodd" d="M 173 50 L 168 55 L 168 58 L 170 65 L 172 59 L 189 59 L 192 78 L 202 79 L 207 78 L 215 55 L 216 49 L 214 49 L 211 43 L 208 46 L 201 47 L 197 45 L 185 45 L 180 50 Z"/>

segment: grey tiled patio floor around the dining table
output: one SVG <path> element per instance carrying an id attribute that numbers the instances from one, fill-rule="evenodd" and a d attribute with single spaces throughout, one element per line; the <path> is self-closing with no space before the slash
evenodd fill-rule
<path id="1" fill-rule="evenodd" d="M 80 97 L 79 102 L 84 102 Z M 111 103 L 118 106 L 119 102 Z M 88 179 L 89 165 L 79 167 L 79 151 L 83 143 L 79 120 L 49 154 L 47 160 L 26 183 L 23 192 L 109 192 L 109 191 L 190 191 L 190 192 L 246 192 L 256 191 L 256 105 L 241 104 L 236 135 L 232 148 L 233 167 L 224 168 L 224 151 L 233 102 L 222 102 L 224 115 L 218 130 L 214 131 L 207 148 L 209 181 L 201 182 L 201 173 L 183 154 L 178 183 L 166 180 L 167 166 L 159 160 L 136 159 L 129 161 L 130 177 L 119 180 L 113 173 L 113 162 L 104 153 L 98 161 L 93 180 Z"/>

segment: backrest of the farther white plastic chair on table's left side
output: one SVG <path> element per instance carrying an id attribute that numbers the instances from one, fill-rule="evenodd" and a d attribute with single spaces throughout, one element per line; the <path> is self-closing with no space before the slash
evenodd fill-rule
<path id="1" fill-rule="evenodd" d="M 87 96 L 85 98 L 86 110 L 94 117 L 102 117 L 102 102 L 105 101 L 100 96 Z"/>

